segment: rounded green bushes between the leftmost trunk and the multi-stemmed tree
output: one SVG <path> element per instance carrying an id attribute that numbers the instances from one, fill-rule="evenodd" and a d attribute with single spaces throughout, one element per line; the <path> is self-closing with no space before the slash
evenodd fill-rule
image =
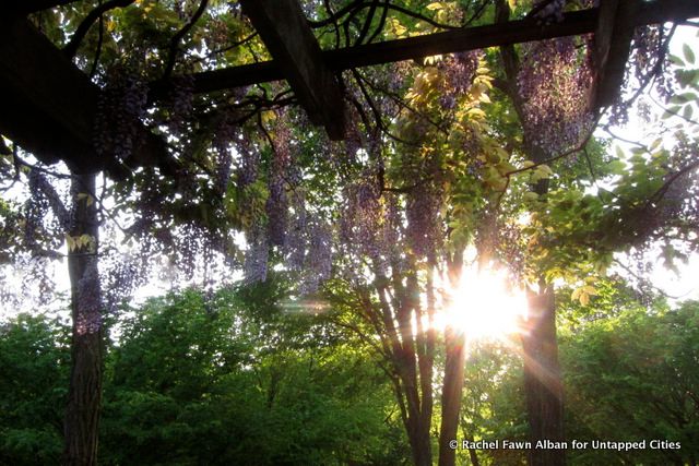
<path id="1" fill-rule="evenodd" d="M 121 323 L 107 359 L 104 462 L 400 461 L 384 441 L 395 434 L 390 394 L 364 351 L 328 327 L 299 340 L 316 325 L 308 318 L 248 310 L 236 296 L 186 291 Z"/>

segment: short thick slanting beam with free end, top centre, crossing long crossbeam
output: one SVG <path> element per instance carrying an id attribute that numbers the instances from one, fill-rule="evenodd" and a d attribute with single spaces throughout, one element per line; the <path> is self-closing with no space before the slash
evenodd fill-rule
<path id="1" fill-rule="evenodd" d="M 315 124 L 330 139 L 344 138 L 344 103 L 334 73 L 297 0 L 240 0 L 276 65 Z"/>

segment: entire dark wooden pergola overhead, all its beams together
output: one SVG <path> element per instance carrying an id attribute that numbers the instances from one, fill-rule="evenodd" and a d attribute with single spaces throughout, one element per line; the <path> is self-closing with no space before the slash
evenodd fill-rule
<path id="1" fill-rule="evenodd" d="M 26 15 L 71 0 L 15 1 L 0 20 L 0 133 L 46 164 L 66 162 L 78 172 L 115 169 L 117 160 L 94 150 L 98 87 Z M 193 74 L 196 93 L 286 80 L 310 120 L 333 140 L 343 138 L 339 72 L 353 68 L 554 37 L 594 33 L 595 88 L 591 108 L 608 106 L 619 92 L 636 26 L 699 16 L 699 1 L 603 0 L 600 8 L 567 13 L 558 23 L 535 19 L 457 28 L 376 44 L 321 50 L 297 0 L 240 0 L 273 60 Z M 151 97 L 169 81 L 151 83 Z M 120 163 L 173 168 L 159 136 L 141 128 L 142 141 Z"/>

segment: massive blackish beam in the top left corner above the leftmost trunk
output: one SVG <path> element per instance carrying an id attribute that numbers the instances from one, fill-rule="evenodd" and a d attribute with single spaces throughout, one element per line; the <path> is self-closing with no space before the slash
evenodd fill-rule
<path id="1" fill-rule="evenodd" d="M 99 89 L 25 19 L 0 21 L 0 133 L 39 160 L 63 160 L 76 172 L 123 165 L 171 168 L 163 141 L 140 128 L 127 160 L 97 156 L 95 116 Z"/>

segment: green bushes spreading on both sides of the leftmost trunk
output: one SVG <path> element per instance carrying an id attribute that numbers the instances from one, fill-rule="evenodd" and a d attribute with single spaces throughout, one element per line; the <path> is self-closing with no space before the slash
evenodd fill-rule
<path id="1" fill-rule="evenodd" d="M 402 464 L 366 350 L 322 320 L 249 309 L 247 291 L 187 290 L 110 322 L 100 463 Z M 67 331 L 26 314 L 2 326 L 3 464 L 59 463 Z"/>

